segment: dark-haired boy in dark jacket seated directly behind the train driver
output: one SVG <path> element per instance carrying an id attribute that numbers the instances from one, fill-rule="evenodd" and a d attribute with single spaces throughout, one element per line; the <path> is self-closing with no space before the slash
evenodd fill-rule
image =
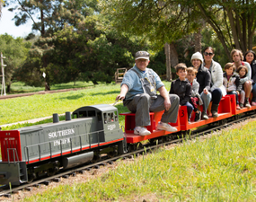
<path id="1" fill-rule="evenodd" d="M 187 66 L 184 63 L 180 63 L 175 66 L 176 75 L 179 76 L 178 79 L 172 82 L 170 94 L 174 93 L 180 97 L 180 106 L 187 106 L 188 117 L 190 121 L 190 116 L 193 110 L 193 106 L 190 104 L 191 97 L 191 85 L 187 76 Z"/>

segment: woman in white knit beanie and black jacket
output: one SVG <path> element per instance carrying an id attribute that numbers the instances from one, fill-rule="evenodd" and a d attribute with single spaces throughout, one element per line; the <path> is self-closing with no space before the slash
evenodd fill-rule
<path id="1" fill-rule="evenodd" d="M 204 103 L 202 119 L 208 119 L 207 108 L 212 99 L 210 91 L 211 75 L 206 67 L 203 66 L 202 54 L 196 52 L 191 57 L 192 66 L 198 71 L 197 81 L 199 83 L 199 94 Z"/>

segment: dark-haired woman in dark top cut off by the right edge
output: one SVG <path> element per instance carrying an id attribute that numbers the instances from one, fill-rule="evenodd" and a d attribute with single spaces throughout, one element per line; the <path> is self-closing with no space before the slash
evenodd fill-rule
<path id="1" fill-rule="evenodd" d="M 243 61 L 248 62 L 252 68 L 252 106 L 256 106 L 256 55 L 252 50 L 248 50 L 244 54 Z"/>

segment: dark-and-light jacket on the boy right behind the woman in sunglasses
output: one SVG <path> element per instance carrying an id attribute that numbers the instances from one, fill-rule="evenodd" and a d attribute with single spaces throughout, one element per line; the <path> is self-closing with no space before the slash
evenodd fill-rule
<path id="1" fill-rule="evenodd" d="M 234 73 L 229 80 L 227 80 L 226 73 L 223 74 L 223 85 L 225 86 L 226 92 L 242 91 L 242 83 L 240 82 L 239 75 Z"/>

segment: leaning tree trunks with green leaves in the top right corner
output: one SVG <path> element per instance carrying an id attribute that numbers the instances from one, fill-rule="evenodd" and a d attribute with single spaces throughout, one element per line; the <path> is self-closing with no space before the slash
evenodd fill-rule
<path id="1" fill-rule="evenodd" d="M 195 4 L 202 17 L 216 32 L 227 57 L 233 48 L 252 49 L 252 37 L 256 29 L 254 1 L 199 1 Z M 231 59 L 231 58 L 230 58 Z"/>

